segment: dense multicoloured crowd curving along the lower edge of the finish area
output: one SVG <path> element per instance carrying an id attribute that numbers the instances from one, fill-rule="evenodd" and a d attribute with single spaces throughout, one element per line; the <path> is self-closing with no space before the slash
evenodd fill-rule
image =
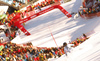
<path id="1" fill-rule="evenodd" d="M 83 34 L 84 42 L 87 38 Z M 82 39 L 77 40 L 78 45 Z M 74 41 L 75 42 L 75 41 Z M 71 43 L 73 44 L 73 42 Z M 1 43 L 0 47 L 3 45 L 2 49 L 0 48 L 0 61 L 48 61 L 49 58 L 59 58 L 64 52 L 64 45 L 60 47 L 34 47 L 32 43 L 27 43 L 23 45 L 18 45 L 12 42 Z M 76 47 L 76 45 L 74 43 Z"/>

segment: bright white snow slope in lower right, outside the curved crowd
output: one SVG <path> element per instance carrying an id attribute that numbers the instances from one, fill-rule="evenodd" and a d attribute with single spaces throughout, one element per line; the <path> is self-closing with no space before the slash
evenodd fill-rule
<path id="1" fill-rule="evenodd" d="M 49 61 L 100 61 L 100 32 L 72 49 L 68 56 L 61 56 Z"/>

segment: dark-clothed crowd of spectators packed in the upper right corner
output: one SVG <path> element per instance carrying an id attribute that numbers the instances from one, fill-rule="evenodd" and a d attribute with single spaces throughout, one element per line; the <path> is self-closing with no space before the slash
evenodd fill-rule
<path id="1" fill-rule="evenodd" d="M 84 0 L 82 4 L 79 8 L 80 15 L 100 12 L 99 0 Z"/>

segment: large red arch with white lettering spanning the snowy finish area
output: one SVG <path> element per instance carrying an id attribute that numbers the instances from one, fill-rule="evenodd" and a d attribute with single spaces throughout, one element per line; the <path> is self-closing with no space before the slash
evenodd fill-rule
<path id="1" fill-rule="evenodd" d="M 58 9 L 59 9 L 62 13 L 64 13 L 68 18 L 72 17 L 72 15 L 71 15 L 70 13 L 68 13 L 63 7 L 61 7 L 60 5 L 54 5 L 54 6 L 52 6 L 52 7 L 49 7 L 49 8 L 47 8 L 47 9 L 43 10 L 43 11 L 40 11 L 40 12 L 36 13 L 36 14 L 33 14 L 33 15 L 27 17 L 27 18 L 19 19 L 18 21 L 16 21 L 16 22 L 14 23 L 14 26 L 17 26 L 23 33 L 25 33 L 25 35 L 27 35 L 27 36 L 28 36 L 28 35 L 31 35 L 21 24 L 22 24 L 22 23 L 25 23 L 25 22 L 27 22 L 27 21 L 29 21 L 29 20 L 31 20 L 31 19 L 34 19 L 34 18 L 36 18 L 36 17 L 38 17 L 38 16 L 40 16 L 40 15 L 42 15 L 42 14 L 44 14 L 44 13 L 47 13 L 47 12 L 53 10 L 53 9 L 56 9 L 56 8 L 58 8 Z"/>

